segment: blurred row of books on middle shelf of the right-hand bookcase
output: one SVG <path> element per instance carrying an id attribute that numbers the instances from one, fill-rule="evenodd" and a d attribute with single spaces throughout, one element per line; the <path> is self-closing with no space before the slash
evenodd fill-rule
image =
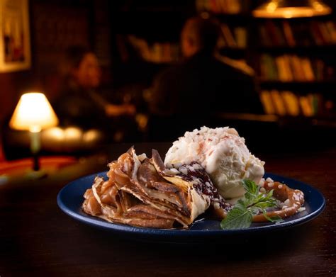
<path id="1" fill-rule="evenodd" d="M 335 69 L 323 60 L 298 55 L 260 57 L 260 79 L 264 81 L 326 81 L 335 77 Z"/>

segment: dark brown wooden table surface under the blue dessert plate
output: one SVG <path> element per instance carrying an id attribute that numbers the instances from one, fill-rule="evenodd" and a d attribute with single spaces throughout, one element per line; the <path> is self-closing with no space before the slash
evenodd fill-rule
<path id="1" fill-rule="evenodd" d="M 164 155 L 169 143 L 135 144 Z M 265 170 L 318 188 L 321 215 L 242 240 L 160 244 L 125 239 L 74 220 L 57 206 L 69 181 L 107 169 L 130 145 L 111 145 L 43 179 L 0 185 L 0 276 L 336 276 L 336 149 L 260 153 Z M 162 156 L 163 157 L 163 156 Z"/>

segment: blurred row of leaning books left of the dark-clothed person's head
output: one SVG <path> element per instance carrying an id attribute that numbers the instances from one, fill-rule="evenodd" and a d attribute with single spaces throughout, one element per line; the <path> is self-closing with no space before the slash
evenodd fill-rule
<path id="1" fill-rule="evenodd" d="M 128 35 L 128 43 L 133 46 L 138 56 L 147 62 L 177 62 L 180 57 L 178 43 L 147 43 L 143 38 Z"/>

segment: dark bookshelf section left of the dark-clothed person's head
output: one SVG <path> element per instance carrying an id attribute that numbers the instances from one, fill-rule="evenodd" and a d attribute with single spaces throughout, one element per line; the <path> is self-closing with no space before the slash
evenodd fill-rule
<path id="1" fill-rule="evenodd" d="M 179 32 L 194 14 L 194 0 L 111 1 L 114 84 L 150 86 L 157 72 L 180 59 Z"/>

